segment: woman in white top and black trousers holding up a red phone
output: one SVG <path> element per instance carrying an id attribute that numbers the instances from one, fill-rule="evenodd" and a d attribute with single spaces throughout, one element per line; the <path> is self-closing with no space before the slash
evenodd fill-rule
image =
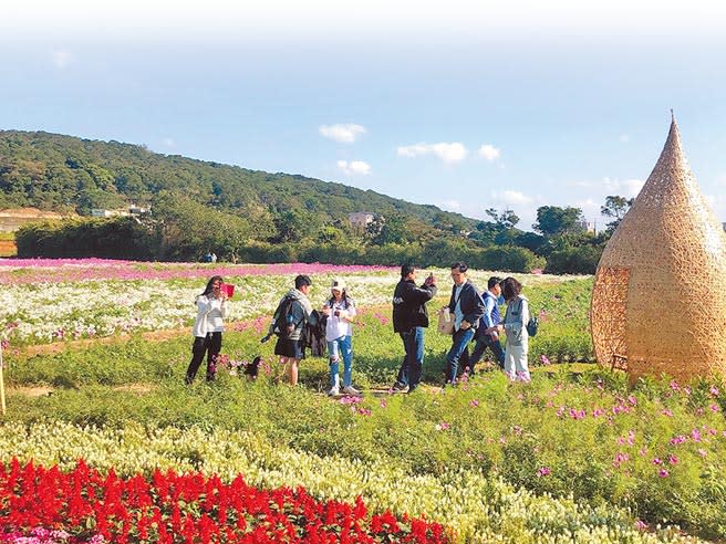
<path id="1" fill-rule="evenodd" d="M 207 381 L 215 379 L 217 356 L 221 352 L 221 333 L 225 331 L 222 320 L 227 317 L 227 293 L 221 289 L 224 283 L 225 280 L 220 275 L 215 275 L 207 282 L 204 293 L 197 296 L 197 318 L 191 331 L 191 362 L 185 379 L 187 384 L 194 381 L 205 354 Z"/>

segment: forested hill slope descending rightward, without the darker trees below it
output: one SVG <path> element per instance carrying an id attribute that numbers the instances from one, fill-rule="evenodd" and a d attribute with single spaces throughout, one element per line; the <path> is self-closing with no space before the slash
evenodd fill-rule
<path id="1" fill-rule="evenodd" d="M 162 155 L 143 146 L 43 132 L 0 130 L 0 208 L 76 211 L 180 199 L 257 222 L 266 230 L 295 211 L 322 224 L 353 211 L 400 215 L 471 229 L 476 221 L 342 184 Z M 448 224 L 447 224 L 448 223 Z"/>

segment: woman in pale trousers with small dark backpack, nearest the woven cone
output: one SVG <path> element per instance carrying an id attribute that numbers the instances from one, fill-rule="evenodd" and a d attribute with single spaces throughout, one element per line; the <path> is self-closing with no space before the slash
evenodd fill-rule
<path id="1" fill-rule="evenodd" d="M 522 284 L 514 278 L 501 282 L 501 294 L 507 301 L 505 321 L 495 327 L 498 332 L 507 333 L 505 344 L 505 374 L 512 380 L 530 381 L 527 356 L 529 354 L 529 332 L 527 324 L 530 320 L 529 301 L 521 294 Z"/>

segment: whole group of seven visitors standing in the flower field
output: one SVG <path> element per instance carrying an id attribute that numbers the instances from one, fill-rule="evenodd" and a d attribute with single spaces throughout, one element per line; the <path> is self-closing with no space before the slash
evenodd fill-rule
<path id="1" fill-rule="evenodd" d="M 527 365 L 529 303 L 521 294 L 522 285 L 514 278 L 492 276 L 483 292 L 467 278 L 468 268 L 461 262 L 450 269 L 452 294 L 447 311 L 454 322 L 452 347 L 446 355 L 445 386 L 454 385 L 461 374 L 473 375 L 485 352 L 490 349 L 499 367 L 511 378 L 528 381 Z M 417 285 L 416 269 L 401 266 L 401 281 L 393 294 L 393 328 L 403 342 L 404 357 L 393 389 L 412 393 L 421 384 L 424 364 L 424 336 L 428 327 L 426 304 L 436 296 L 436 279 L 433 274 Z M 207 380 L 215 379 L 216 364 L 221 351 L 224 320 L 227 317 L 228 296 L 222 289 L 224 279 L 212 276 L 205 291 L 197 296 L 191 362 L 186 383 L 191 384 L 201 362 L 207 356 Z M 324 336 L 330 364 L 329 395 L 357 395 L 353 387 L 353 323 L 356 317 L 355 302 L 348 294 L 345 282 L 333 280 L 330 295 L 320 312 L 313 311 L 309 299 L 312 281 L 300 274 L 294 287 L 282 297 L 272 317 L 269 333 L 278 336 L 274 354 L 287 369 L 291 385 L 298 384 L 300 360 L 304 358 L 304 334 L 309 326 L 324 321 Z M 499 307 L 507 304 L 504 318 Z M 506 333 L 505 347 L 500 333 Z M 265 338 L 263 338 L 265 339 Z M 469 344 L 474 351 L 469 355 Z M 340 377 L 340 363 L 343 377 Z"/>

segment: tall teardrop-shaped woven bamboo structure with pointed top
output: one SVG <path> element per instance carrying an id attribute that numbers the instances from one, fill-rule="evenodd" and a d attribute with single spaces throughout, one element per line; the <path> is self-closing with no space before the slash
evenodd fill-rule
<path id="1" fill-rule="evenodd" d="M 653 172 L 600 258 L 590 306 L 598 363 L 678 380 L 726 376 L 726 236 L 675 118 Z"/>

